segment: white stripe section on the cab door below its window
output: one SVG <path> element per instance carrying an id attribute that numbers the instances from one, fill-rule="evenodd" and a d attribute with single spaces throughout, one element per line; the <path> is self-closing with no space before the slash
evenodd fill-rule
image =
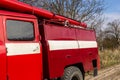
<path id="1" fill-rule="evenodd" d="M 40 53 L 39 43 L 6 43 L 6 48 L 7 56 Z"/>

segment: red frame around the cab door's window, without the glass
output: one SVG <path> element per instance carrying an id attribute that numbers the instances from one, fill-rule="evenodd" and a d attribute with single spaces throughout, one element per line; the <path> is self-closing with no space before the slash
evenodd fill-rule
<path id="1" fill-rule="evenodd" d="M 12 41 L 7 39 L 7 31 L 6 31 L 6 21 L 7 20 L 18 20 L 18 21 L 25 21 L 25 22 L 32 22 L 33 23 L 33 28 L 34 28 L 34 40 L 32 41 Z M 38 42 L 39 41 L 39 30 L 38 30 L 38 22 L 37 18 L 22 18 L 22 17 L 13 17 L 13 16 L 3 16 L 3 25 L 4 25 L 4 36 L 5 36 L 5 41 L 6 42 Z"/>

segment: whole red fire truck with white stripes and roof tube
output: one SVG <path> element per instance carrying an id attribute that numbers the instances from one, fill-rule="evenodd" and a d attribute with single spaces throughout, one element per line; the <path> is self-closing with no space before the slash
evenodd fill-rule
<path id="1" fill-rule="evenodd" d="M 94 30 L 17 0 L 0 0 L 0 80 L 83 80 L 100 67 Z"/>

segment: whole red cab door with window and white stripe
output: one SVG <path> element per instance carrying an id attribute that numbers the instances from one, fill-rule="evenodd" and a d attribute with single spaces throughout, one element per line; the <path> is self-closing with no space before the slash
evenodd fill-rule
<path id="1" fill-rule="evenodd" d="M 4 16 L 8 80 L 41 80 L 37 19 Z"/>

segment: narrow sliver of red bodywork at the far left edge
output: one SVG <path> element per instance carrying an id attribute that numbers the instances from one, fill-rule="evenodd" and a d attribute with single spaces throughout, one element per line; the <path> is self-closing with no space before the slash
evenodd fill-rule
<path id="1" fill-rule="evenodd" d="M 6 79 L 6 49 L 3 36 L 2 16 L 0 16 L 0 80 Z"/>

